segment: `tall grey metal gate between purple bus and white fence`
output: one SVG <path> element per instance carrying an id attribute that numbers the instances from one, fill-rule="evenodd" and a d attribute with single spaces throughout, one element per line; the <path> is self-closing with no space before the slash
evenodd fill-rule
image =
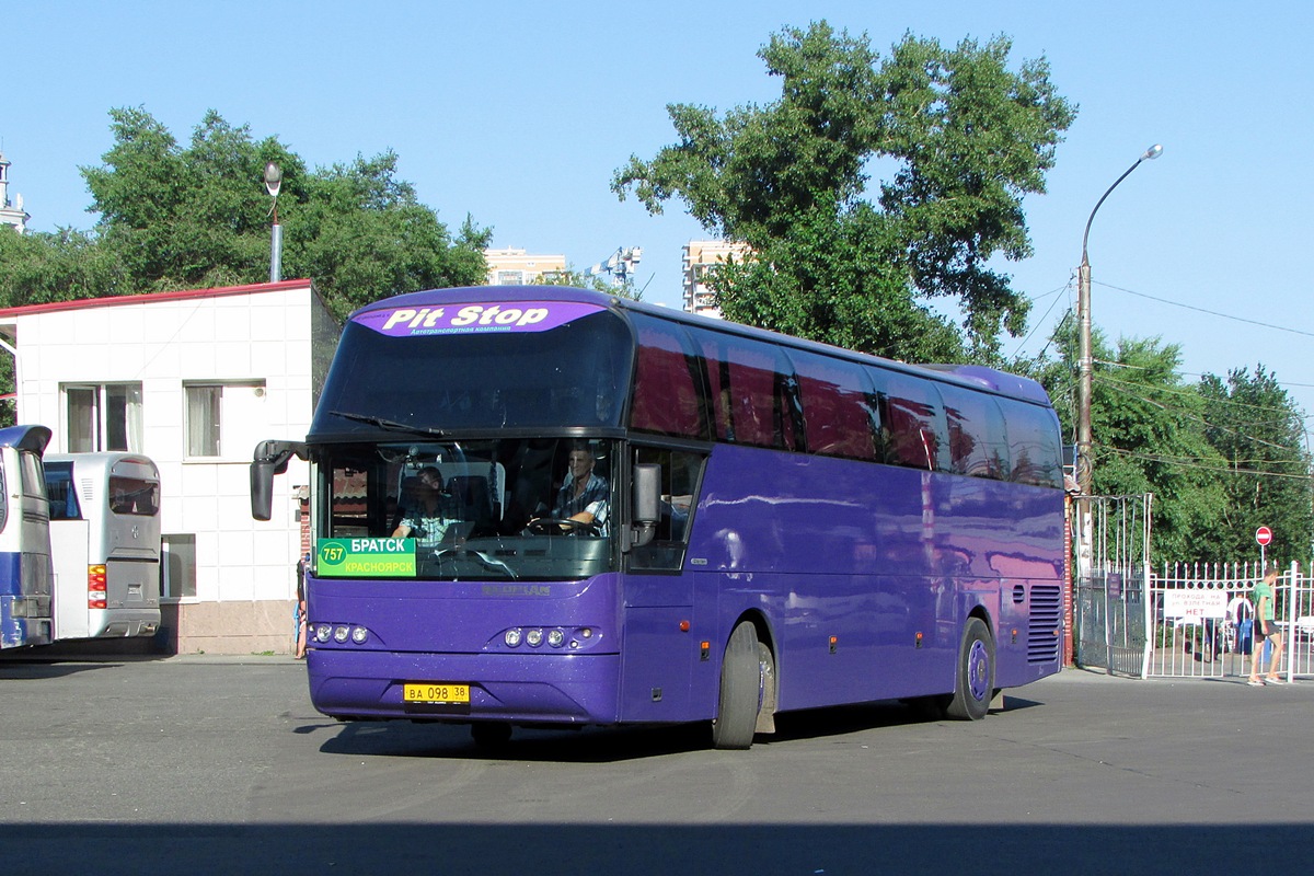
<path id="1" fill-rule="evenodd" d="M 1088 668 L 1146 674 L 1146 592 L 1150 578 L 1151 494 L 1083 496 L 1091 515 L 1089 558 L 1076 575 L 1076 662 Z"/>

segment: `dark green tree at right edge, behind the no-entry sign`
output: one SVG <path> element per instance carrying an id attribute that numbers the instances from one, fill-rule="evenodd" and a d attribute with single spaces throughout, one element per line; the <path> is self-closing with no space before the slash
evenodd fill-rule
<path id="1" fill-rule="evenodd" d="M 1205 374 L 1205 435 L 1227 468 L 1214 541 L 1225 556 L 1252 556 L 1255 529 L 1273 531 L 1269 557 L 1305 559 L 1314 533 L 1310 464 L 1300 408 L 1263 365 Z"/>

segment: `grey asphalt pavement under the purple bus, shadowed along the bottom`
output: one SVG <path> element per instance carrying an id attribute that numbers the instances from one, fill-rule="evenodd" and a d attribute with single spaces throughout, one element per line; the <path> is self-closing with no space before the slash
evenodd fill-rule
<path id="1" fill-rule="evenodd" d="M 339 724 L 284 657 L 0 661 L 5 873 L 1305 872 L 1314 680 L 1068 670 L 979 722 Z"/>

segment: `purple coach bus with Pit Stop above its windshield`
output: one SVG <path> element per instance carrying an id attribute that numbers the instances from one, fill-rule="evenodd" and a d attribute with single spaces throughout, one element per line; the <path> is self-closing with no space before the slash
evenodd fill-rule
<path id="1" fill-rule="evenodd" d="M 311 464 L 325 714 L 710 721 L 905 699 L 983 717 L 1059 668 L 1058 419 L 917 368 L 553 286 L 401 296 L 342 334 Z"/>

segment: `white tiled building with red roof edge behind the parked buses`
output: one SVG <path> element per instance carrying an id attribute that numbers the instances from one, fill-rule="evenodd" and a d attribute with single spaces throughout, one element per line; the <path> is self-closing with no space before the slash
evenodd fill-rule
<path id="1" fill-rule="evenodd" d="M 51 452 L 126 449 L 162 482 L 166 636 L 179 653 L 286 653 L 307 549 L 307 466 L 251 517 L 251 454 L 301 439 L 339 326 L 309 280 L 0 309 L 17 349 L 17 422 Z"/>

